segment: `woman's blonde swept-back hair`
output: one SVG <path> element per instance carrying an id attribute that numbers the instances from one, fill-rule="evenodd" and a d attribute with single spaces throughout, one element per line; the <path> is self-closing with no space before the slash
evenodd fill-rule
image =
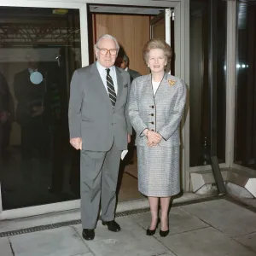
<path id="1" fill-rule="evenodd" d="M 172 59 L 172 48 L 166 41 L 160 38 L 150 39 L 143 47 L 143 59 L 146 64 L 148 64 L 149 51 L 151 49 L 162 49 L 164 51 L 166 61 L 169 63 Z"/>

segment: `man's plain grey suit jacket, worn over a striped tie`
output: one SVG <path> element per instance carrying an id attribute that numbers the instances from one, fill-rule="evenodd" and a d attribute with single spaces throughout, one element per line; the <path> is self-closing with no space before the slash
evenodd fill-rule
<path id="1" fill-rule="evenodd" d="M 83 150 L 108 151 L 113 138 L 119 150 L 127 148 L 132 133 L 126 102 L 130 90 L 128 73 L 116 68 L 118 94 L 113 108 L 96 63 L 73 73 L 68 109 L 70 137 L 82 137 Z"/>

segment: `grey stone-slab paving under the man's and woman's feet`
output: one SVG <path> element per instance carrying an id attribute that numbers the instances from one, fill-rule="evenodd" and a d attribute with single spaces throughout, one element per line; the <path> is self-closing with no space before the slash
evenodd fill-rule
<path id="1" fill-rule="evenodd" d="M 116 220 L 120 232 L 98 222 L 93 241 L 80 224 L 0 238 L 0 256 L 256 256 L 256 213 L 226 199 L 173 207 L 165 238 L 145 235 L 149 212 Z"/>

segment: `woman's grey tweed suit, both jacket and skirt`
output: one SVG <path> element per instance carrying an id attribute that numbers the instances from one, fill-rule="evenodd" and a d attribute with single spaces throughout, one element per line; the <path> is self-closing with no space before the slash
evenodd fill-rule
<path id="1" fill-rule="evenodd" d="M 164 197 L 179 192 L 179 124 L 185 101 L 185 83 L 167 73 L 155 95 L 150 74 L 131 84 L 128 113 L 137 132 L 138 187 L 143 195 Z M 146 128 L 163 137 L 157 146 L 147 146 Z"/>

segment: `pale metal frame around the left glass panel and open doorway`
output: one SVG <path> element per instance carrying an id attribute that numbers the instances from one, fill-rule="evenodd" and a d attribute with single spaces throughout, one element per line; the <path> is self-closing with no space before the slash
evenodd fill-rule
<path id="1" fill-rule="evenodd" d="M 71 0 L 2 0 L 3 7 L 29 7 L 29 8 L 59 8 L 59 9 L 79 9 L 80 15 L 80 32 L 81 32 L 81 58 L 82 66 L 89 64 L 89 46 L 88 46 L 88 24 L 87 24 L 87 3 L 107 4 L 107 5 L 132 5 L 140 7 L 163 7 L 172 8 L 175 11 L 175 45 L 176 45 L 176 61 L 175 70 L 177 77 L 185 80 L 189 86 L 189 1 L 151 1 L 130 0 L 77 0 L 73 3 Z M 183 119 L 183 148 L 182 148 L 182 186 L 186 189 L 189 184 L 189 114 Z M 0 183 L 1 185 L 1 183 Z M 44 214 L 49 212 L 61 212 L 80 207 L 80 200 L 63 201 L 53 204 L 41 205 L 36 207 L 24 207 L 14 210 L 3 211 L 2 197 L 0 197 L 0 220 L 11 218 L 22 218 Z"/>

